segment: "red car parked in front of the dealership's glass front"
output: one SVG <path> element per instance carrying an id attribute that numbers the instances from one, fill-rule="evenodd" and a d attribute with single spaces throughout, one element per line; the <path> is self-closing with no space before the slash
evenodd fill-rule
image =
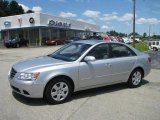
<path id="1" fill-rule="evenodd" d="M 47 45 L 58 45 L 58 44 L 65 44 L 65 43 L 66 43 L 66 40 L 64 38 L 46 40 Z"/>

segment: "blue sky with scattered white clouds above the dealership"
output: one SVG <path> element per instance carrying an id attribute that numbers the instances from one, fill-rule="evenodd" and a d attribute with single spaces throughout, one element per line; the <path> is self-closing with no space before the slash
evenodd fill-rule
<path id="1" fill-rule="evenodd" d="M 133 0 L 16 0 L 28 9 L 96 24 L 100 31 L 131 33 Z M 160 0 L 136 0 L 136 32 L 160 35 Z"/>

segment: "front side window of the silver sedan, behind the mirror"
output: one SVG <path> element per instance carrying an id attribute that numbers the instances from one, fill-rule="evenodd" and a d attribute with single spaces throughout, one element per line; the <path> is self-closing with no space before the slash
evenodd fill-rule
<path id="1" fill-rule="evenodd" d="M 109 58 L 109 45 L 101 44 L 94 47 L 87 56 L 94 56 L 96 60 Z"/>

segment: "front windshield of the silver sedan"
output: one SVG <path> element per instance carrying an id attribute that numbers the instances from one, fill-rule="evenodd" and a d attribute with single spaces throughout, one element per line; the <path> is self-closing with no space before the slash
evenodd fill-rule
<path id="1" fill-rule="evenodd" d="M 77 60 L 91 45 L 84 43 L 71 43 L 53 54 L 49 55 L 52 58 L 64 61 Z"/>

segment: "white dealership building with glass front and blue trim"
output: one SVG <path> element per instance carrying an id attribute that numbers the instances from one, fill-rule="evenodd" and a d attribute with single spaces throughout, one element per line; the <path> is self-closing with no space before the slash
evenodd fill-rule
<path id="1" fill-rule="evenodd" d="M 94 24 L 47 15 L 30 13 L 0 18 L 1 43 L 12 38 L 24 38 L 30 45 L 44 45 L 47 39 L 83 38 L 99 32 Z"/>

